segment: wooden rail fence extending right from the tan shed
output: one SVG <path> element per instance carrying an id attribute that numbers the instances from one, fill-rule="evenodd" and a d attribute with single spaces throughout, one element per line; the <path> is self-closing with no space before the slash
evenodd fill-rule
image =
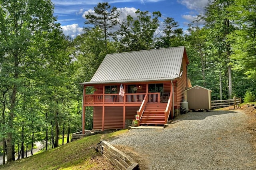
<path id="1" fill-rule="evenodd" d="M 242 103 L 242 99 L 238 97 L 234 97 L 233 99 L 228 100 L 213 100 L 212 101 L 212 109 L 217 109 L 221 107 L 229 107 L 234 106 L 234 109 L 240 108 L 240 104 Z"/>

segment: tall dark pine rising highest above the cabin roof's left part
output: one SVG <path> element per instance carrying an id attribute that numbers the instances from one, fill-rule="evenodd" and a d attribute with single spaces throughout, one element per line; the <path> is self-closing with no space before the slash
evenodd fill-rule
<path id="1" fill-rule="evenodd" d="M 93 24 L 94 27 L 99 27 L 104 32 L 105 47 L 107 48 L 107 38 L 110 35 L 109 30 L 119 24 L 118 17 L 120 16 L 120 11 L 108 4 L 108 2 L 98 3 L 94 7 L 94 12 L 88 12 L 85 15 L 85 24 Z"/>

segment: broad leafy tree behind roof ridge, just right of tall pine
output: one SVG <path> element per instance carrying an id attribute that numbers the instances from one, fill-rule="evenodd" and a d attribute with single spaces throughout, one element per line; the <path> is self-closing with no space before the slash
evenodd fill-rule
<path id="1" fill-rule="evenodd" d="M 159 26 L 158 18 L 161 13 L 148 11 L 136 11 L 137 18 L 128 15 L 122 22 L 120 30 L 115 34 L 115 40 L 119 43 L 119 51 L 138 51 L 152 49 L 154 47 L 154 33 Z"/>

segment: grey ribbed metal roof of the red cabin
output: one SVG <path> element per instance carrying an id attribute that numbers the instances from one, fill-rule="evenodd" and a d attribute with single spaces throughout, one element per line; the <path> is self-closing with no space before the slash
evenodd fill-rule
<path id="1" fill-rule="evenodd" d="M 80 84 L 173 80 L 179 77 L 184 52 L 182 46 L 107 54 L 92 79 Z"/>

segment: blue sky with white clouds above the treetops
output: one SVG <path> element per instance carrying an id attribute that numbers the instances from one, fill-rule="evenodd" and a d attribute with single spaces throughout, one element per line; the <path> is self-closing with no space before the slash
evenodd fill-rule
<path id="1" fill-rule="evenodd" d="M 204 7 L 208 0 L 52 0 L 55 5 L 54 16 L 57 16 L 64 34 L 75 38 L 82 34 L 85 26 L 84 14 L 93 12 L 98 2 L 108 2 L 111 7 L 115 6 L 121 12 L 120 21 L 126 18 L 127 14 L 134 15 L 137 9 L 141 11 L 160 11 L 164 20 L 172 17 L 186 32 L 187 25 L 193 18 L 204 13 Z M 161 30 L 161 23 L 158 31 Z"/>

